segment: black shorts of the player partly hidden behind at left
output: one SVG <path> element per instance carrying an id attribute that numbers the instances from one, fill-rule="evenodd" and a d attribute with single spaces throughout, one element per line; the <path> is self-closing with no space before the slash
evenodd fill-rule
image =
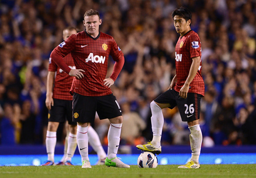
<path id="1" fill-rule="evenodd" d="M 65 122 L 68 121 L 70 125 L 77 123 L 72 121 L 72 100 L 54 99 L 54 105 L 49 110 L 48 119 L 50 122 Z"/>

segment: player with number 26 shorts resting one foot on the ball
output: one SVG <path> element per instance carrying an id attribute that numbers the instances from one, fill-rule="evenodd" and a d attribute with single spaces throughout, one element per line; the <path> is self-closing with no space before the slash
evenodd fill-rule
<path id="1" fill-rule="evenodd" d="M 172 109 L 178 106 L 182 121 L 188 122 L 192 150 L 190 161 L 178 168 L 200 168 L 199 156 L 203 138 L 199 118 L 200 101 L 204 96 L 204 81 L 201 75 L 201 42 L 197 33 L 190 28 L 192 15 L 189 9 L 181 7 L 174 10 L 172 18 L 174 27 L 180 34 L 175 48 L 176 75 L 173 77 L 169 89 L 150 104 L 152 142 L 136 147 L 160 154 L 160 140 L 164 125 L 161 109 Z"/>

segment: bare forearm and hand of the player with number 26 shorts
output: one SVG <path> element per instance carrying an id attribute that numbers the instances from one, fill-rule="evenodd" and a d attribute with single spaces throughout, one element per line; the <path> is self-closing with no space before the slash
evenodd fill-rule
<path id="1" fill-rule="evenodd" d="M 199 69 L 201 57 L 197 56 L 197 57 L 192 58 L 192 60 L 193 61 L 192 61 L 192 64 L 191 64 L 191 67 L 190 67 L 190 70 L 189 70 L 188 78 L 185 81 L 184 85 L 180 89 L 180 94 L 179 95 L 182 98 L 187 98 L 187 95 L 188 95 L 188 92 L 189 92 L 189 85 L 193 81 L 193 79 L 195 78 L 195 75 L 196 75 L 196 73 Z"/>

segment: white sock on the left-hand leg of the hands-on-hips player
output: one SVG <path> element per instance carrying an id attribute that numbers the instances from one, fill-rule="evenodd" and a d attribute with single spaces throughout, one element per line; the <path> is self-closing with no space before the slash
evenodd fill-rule
<path id="1" fill-rule="evenodd" d="M 77 125 L 77 134 L 76 134 L 76 140 L 77 140 L 77 146 L 82 158 L 82 162 L 85 160 L 89 161 L 88 157 L 88 126 L 82 127 L 80 125 Z"/>

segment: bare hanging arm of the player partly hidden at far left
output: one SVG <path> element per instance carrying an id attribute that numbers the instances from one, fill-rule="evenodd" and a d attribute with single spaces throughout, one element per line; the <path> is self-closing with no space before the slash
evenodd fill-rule
<path id="1" fill-rule="evenodd" d="M 46 105 L 46 108 L 48 108 L 49 110 L 51 110 L 51 107 L 54 104 L 53 103 L 53 98 L 52 98 L 52 90 L 53 90 L 54 77 L 55 77 L 55 72 L 48 71 L 47 82 L 46 82 L 45 105 Z"/>

